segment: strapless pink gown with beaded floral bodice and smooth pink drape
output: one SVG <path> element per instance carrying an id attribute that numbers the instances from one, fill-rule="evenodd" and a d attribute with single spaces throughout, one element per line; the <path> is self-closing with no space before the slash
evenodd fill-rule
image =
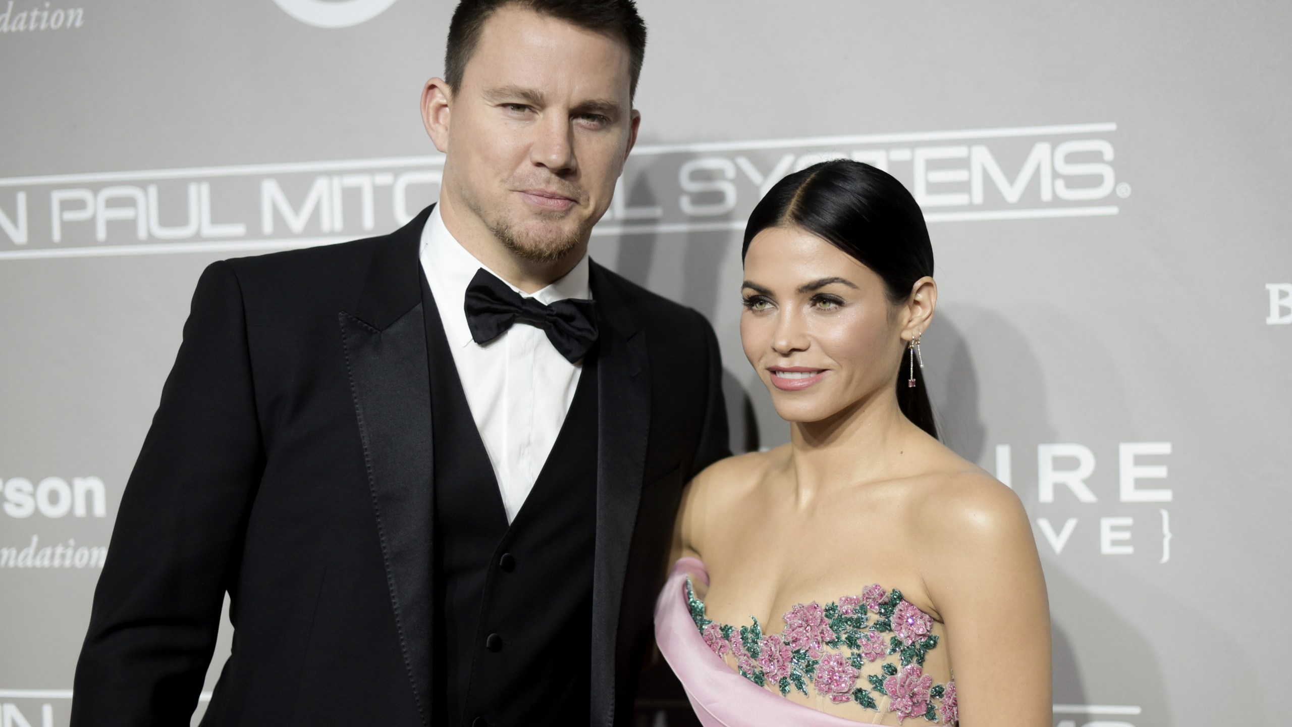
<path id="1" fill-rule="evenodd" d="M 942 624 L 901 591 L 871 585 L 824 607 L 798 604 L 782 616 L 783 631 L 769 634 L 756 618 L 739 627 L 707 618 L 691 573 L 708 583 L 699 560 L 673 565 L 655 604 L 655 639 L 705 727 L 956 724 L 948 662 L 925 671 Z"/>

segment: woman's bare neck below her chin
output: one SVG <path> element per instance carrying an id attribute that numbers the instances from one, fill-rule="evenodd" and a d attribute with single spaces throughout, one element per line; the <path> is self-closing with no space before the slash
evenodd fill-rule
<path id="1" fill-rule="evenodd" d="M 891 389 L 876 392 L 820 422 L 795 422 L 789 466 L 798 505 L 859 483 L 888 479 L 911 444 L 911 422 Z"/>

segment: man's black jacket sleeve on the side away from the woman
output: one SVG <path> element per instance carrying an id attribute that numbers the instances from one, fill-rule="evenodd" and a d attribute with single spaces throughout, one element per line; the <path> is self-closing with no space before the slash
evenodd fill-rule
<path id="1" fill-rule="evenodd" d="M 214 263 L 116 515 L 72 727 L 189 724 L 262 471 L 242 291 Z"/>

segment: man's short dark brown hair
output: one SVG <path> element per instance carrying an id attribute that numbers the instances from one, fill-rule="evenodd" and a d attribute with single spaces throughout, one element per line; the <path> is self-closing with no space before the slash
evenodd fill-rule
<path id="1" fill-rule="evenodd" d="M 463 0 L 448 23 L 448 47 L 444 50 L 444 83 L 451 89 L 457 91 L 463 84 L 466 62 L 475 53 L 490 16 L 508 6 L 532 10 L 623 40 L 632 62 L 629 98 L 637 94 L 637 78 L 646 57 L 646 23 L 633 0 Z"/>

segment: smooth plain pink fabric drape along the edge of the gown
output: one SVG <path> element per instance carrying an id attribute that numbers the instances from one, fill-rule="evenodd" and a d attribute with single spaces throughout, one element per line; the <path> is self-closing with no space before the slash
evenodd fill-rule
<path id="1" fill-rule="evenodd" d="M 682 558 L 655 602 L 655 640 L 673 667 L 691 708 L 704 727 L 876 727 L 795 704 L 758 687 L 713 653 L 691 621 L 686 604 L 686 576 L 708 585 L 704 563 Z"/>

